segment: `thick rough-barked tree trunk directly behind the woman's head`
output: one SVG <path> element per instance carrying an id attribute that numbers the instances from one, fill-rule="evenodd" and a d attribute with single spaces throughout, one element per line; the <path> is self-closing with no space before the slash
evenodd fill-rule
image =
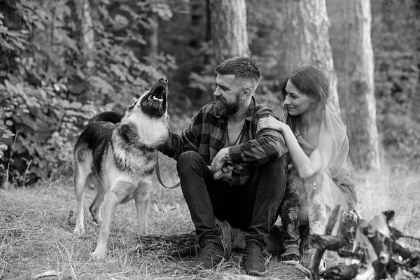
<path id="1" fill-rule="evenodd" d="M 337 74 L 328 43 L 328 15 L 325 0 L 283 0 L 279 24 L 281 32 L 281 63 L 284 76 L 292 69 L 314 65 L 330 79 L 330 104 L 339 113 Z"/>

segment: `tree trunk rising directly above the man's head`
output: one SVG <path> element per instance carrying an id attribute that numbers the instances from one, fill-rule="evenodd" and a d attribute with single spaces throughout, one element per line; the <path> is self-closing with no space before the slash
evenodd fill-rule
<path id="1" fill-rule="evenodd" d="M 249 56 L 245 0 L 210 0 L 211 38 L 216 64 Z"/>

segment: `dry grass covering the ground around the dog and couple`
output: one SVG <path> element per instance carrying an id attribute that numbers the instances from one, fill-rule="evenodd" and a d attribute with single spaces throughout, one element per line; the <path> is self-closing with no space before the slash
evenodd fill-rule
<path id="1" fill-rule="evenodd" d="M 175 162 L 161 157 L 162 178 L 174 184 Z M 396 212 L 395 225 L 411 235 L 420 230 L 420 176 L 404 165 L 384 168 L 377 174 L 359 174 L 358 210 L 370 219 L 381 211 Z M 85 208 L 94 191 L 86 195 Z M 85 211 L 86 234 L 73 237 L 69 211 L 76 200 L 71 179 L 39 184 L 34 188 L 0 190 L 0 279 L 239 279 L 241 255 L 214 269 L 193 272 L 188 263 L 195 257 L 172 258 L 160 250 L 138 254 L 139 243 L 134 203 L 120 205 L 113 221 L 109 255 L 103 262 L 90 258 L 99 226 Z M 176 235 L 192 232 L 193 223 L 181 190 L 167 190 L 155 180 L 150 208 L 149 232 Z M 270 279 L 304 279 L 295 267 L 275 258 L 268 264 Z M 232 276 L 236 274 L 237 276 Z M 244 277 L 242 279 L 245 279 Z M 249 278 L 248 278 L 249 279 Z"/>

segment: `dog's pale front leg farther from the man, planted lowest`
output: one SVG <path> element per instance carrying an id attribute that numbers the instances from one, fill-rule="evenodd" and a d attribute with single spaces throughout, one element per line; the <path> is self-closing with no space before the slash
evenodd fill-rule
<path id="1" fill-rule="evenodd" d="M 118 196 L 113 191 L 109 191 L 104 197 L 104 216 L 102 217 L 101 230 L 99 230 L 99 238 L 97 247 L 92 253 L 97 260 L 103 260 L 106 257 L 106 244 L 109 239 L 109 231 L 111 230 L 111 223 L 113 215 L 116 213 L 118 204 Z"/>

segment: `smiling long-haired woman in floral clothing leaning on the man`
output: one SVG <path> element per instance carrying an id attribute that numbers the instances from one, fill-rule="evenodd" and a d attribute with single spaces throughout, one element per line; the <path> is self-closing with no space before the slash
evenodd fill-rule
<path id="1" fill-rule="evenodd" d="M 282 260 L 300 260 L 299 220 L 309 220 L 309 233 L 323 235 L 336 204 L 346 211 L 356 207 L 354 183 L 349 176 L 349 139 L 342 120 L 327 106 L 328 78 L 314 66 L 294 69 L 283 82 L 285 122 L 269 116 L 260 130 L 279 130 L 291 163 L 288 188 L 281 207 L 286 229 Z M 302 215 L 303 214 L 303 215 Z M 314 254 L 309 248 L 309 255 Z M 325 261 L 321 266 L 325 268 Z"/>

